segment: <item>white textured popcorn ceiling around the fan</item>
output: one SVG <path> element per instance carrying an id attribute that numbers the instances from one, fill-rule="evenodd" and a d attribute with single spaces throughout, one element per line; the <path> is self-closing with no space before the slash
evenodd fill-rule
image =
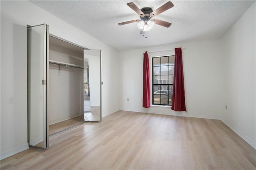
<path id="1" fill-rule="evenodd" d="M 174 7 L 154 16 L 172 23 L 169 28 L 155 25 L 140 35 L 136 23 L 118 23 L 140 19 L 126 4 L 156 10 L 168 1 L 86 0 L 30 1 L 58 18 L 79 28 L 118 51 L 152 45 L 221 38 L 255 1 L 171 1 Z M 47 23 L 46 23 L 47 24 Z M 147 38 L 145 38 L 147 37 Z"/>

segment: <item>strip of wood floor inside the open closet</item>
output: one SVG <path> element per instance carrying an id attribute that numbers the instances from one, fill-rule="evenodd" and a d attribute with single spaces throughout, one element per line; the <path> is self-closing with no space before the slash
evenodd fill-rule
<path id="1" fill-rule="evenodd" d="M 84 123 L 84 115 L 77 116 L 77 117 L 74 117 L 74 118 L 68 119 L 66 121 L 59 122 L 59 123 L 55 123 L 55 124 L 49 126 L 49 135 L 60 132 L 67 128 L 76 126 L 80 123 Z"/>

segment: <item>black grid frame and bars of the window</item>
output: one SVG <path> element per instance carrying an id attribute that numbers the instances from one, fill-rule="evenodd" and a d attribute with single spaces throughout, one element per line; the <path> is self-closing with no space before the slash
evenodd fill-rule
<path id="1" fill-rule="evenodd" d="M 151 76 L 152 76 L 152 81 L 151 81 L 151 89 L 152 89 L 152 106 L 164 106 L 164 107 L 171 107 L 172 106 L 172 104 L 169 104 L 170 103 L 170 101 L 169 101 L 169 99 L 170 99 L 170 96 L 171 96 L 171 98 L 172 98 L 172 88 L 171 88 L 171 93 L 168 93 L 168 95 L 166 95 L 166 94 L 154 94 L 154 92 L 156 92 L 156 91 L 154 91 L 154 88 L 156 88 L 156 86 L 158 87 L 158 90 L 166 90 L 166 91 L 170 91 L 170 86 L 173 86 L 173 82 L 172 83 L 170 83 L 170 75 L 172 75 L 172 76 L 174 76 L 174 73 L 173 74 L 170 74 L 170 68 L 168 68 L 168 80 L 166 80 L 166 81 L 168 81 L 168 83 L 166 82 L 166 84 L 162 84 L 162 83 L 164 83 L 164 80 L 162 80 L 161 78 L 160 78 L 160 80 L 158 80 L 158 83 L 160 82 L 160 84 L 154 84 L 154 58 L 160 58 L 160 65 L 159 65 L 159 67 L 160 67 L 160 77 L 161 76 L 163 76 L 162 75 L 162 73 L 161 73 L 161 71 L 162 71 L 162 69 L 161 69 L 161 66 L 166 66 L 166 65 L 161 65 L 161 58 L 162 57 L 168 57 L 168 65 L 167 66 L 170 66 L 170 57 L 174 57 L 174 55 L 164 55 L 164 56 L 156 56 L 156 57 L 151 57 L 151 64 L 152 64 L 152 72 L 151 72 Z M 174 61 L 173 61 L 173 69 L 174 69 Z M 155 66 L 155 67 L 158 67 L 158 66 Z M 166 75 L 166 74 L 164 74 L 164 75 Z M 168 86 L 168 89 L 162 89 L 161 88 L 161 86 Z M 157 91 L 158 91 L 157 90 Z M 154 95 L 160 95 L 160 104 L 159 103 L 154 103 Z M 168 96 L 168 104 L 161 104 L 161 97 L 162 97 L 162 95 L 163 96 Z"/>

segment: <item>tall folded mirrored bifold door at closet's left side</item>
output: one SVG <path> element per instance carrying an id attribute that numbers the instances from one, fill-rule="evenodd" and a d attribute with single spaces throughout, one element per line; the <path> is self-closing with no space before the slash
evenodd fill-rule
<path id="1" fill-rule="evenodd" d="M 27 28 L 28 52 L 28 143 L 48 147 L 46 84 L 49 49 L 49 26 Z"/>

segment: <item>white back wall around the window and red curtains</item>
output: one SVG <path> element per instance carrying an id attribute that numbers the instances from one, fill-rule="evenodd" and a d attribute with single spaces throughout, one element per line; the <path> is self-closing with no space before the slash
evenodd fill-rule
<path id="1" fill-rule="evenodd" d="M 160 106 L 143 108 L 143 53 L 175 47 L 185 47 L 182 49 L 182 57 L 187 112 L 174 112 L 170 107 Z M 151 57 L 173 54 L 174 50 L 149 53 L 150 75 Z M 120 110 L 213 119 L 219 119 L 224 111 L 221 76 L 223 67 L 219 39 L 122 51 L 120 68 Z M 152 88 L 150 90 L 152 91 Z"/>

